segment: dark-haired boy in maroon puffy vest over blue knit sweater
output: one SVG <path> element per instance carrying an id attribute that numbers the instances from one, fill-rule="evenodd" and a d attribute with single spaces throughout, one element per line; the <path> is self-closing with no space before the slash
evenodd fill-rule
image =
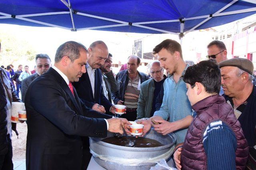
<path id="1" fill-rule="evenodd" d="M 185 141 L 174 152 L 178 169 L 243 170 L 248 144 L 232 107 L 220 92 L 220 69 L 215 61 L 201 61 L 183 75 L 196 116 Z"/>

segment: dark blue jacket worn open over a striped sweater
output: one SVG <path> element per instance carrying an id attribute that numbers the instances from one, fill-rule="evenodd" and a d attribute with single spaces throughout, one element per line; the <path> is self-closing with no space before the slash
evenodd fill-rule
<path id="1" fill-rule="evenodd" d="M 140 83 L 143 83 L 144 81 L 148 80 L 148 76 L 145 73 L 138 71 L 138 74 L 140 76 Z M 119 100 L 124 101 L 124 94 L 126 91 L 126 87 L 128 85 L 128 81 L 129 81 L 128 70 L 122 70 L 116 74 L 116 82 L 117 82 L 118 90 L 114 93 L 111 93 L 114 104 L 117 104 Z"/>

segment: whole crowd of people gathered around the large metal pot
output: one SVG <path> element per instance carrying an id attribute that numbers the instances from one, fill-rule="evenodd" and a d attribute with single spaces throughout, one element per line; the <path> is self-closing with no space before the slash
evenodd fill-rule
<path id="1" fill-rule="evenodd" d="M 1 47 L 1 46 L 0 46 Z M 34 72 L 0 68 L 0 169 L 11 170 L 12 102 L 24 102 L 26 168 L 86 169 L 89 138 L 129 133 L 129 121 L 174 133 L 178 169 L 256 169 L 256 86 L 253 63 L 227 59 L 222 41 L 206 46 L 208 60 L 184 61 L 181 45 L 166 39 L 152 49 L 158 61 L 139 72 L 131 55 L 116 74 L 103 41 L 87 49 L 75 41 L 58 47 L 54 64 L 35 57 Z M 164 74 L 166 70 L 166 75 Z M 19 93 L 21 92 L 21 100 Z M 116 116 L 115 104 L 126 113 Z"/>

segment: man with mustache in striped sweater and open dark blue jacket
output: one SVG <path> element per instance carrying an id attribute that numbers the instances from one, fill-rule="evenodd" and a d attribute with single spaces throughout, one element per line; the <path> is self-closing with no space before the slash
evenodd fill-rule
<path id="1" fill-rule="evenodd" d="M 140 84 L 148 80 L 145 73 L 137 70 L 139 66 L 140 58 L 138 56 L 128 57 L 127 70 L 122 70 L 116 74 L 118 91 L 112 93 L 115 104 L 126 106 L 126 114 L 122 114 L 121 117 L 129 121 L 136 120 Z"/>

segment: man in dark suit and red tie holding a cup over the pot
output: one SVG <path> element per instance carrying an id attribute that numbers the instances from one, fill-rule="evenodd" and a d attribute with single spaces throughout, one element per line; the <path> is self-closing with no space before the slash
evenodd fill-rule
<path id="1" fill-rule="evenodd" d="M 81 170 L 81 136 L 106 137 L 123 133 L 126 119 L 93 111 L 78 98 L 71 82 L 86 72 L 88 51 L 74 41 L 57 49 L 55 64 L 28 87 L 26 168 L 28 170 Z"/>

